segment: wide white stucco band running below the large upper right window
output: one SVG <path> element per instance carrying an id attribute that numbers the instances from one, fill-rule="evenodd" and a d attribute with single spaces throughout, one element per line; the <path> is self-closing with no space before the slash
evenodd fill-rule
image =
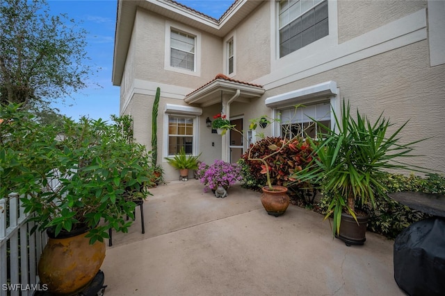
<path id="1" fill-rule="evenodd" d="M 299 59 L 293 55 L 298 53 L 298 56 L 305 56 L 300 55 L 300 51 L 290 53 L 286 55 L 286 57 L 293 57 L 293 60 L 289 60 L 289 64 L 282 68 L 272 68 L 268 75 L 254 80 L 252 83 L 263 85 L 266 90 L 273 89 L 414 42 L 426 40 L 426 37 L 426 10 L 421 9 L 342 44 L 321 48 L 316 54 L 307 53 L 307 58 Z"/>

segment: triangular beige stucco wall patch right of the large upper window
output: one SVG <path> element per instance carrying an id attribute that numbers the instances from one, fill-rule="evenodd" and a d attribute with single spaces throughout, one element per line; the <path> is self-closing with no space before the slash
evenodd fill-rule
<path id="1" fill-rule="evenodd" d="M 427 1 L 339 0 L 339 43 L 426 8 Z"/>

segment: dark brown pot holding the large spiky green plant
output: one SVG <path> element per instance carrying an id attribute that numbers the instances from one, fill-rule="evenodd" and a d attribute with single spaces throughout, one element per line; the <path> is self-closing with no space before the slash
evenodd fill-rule
<path id="1" fill-rule="evenodd" d="M 353 216 L 342 213 L 340 222 L 340 232 L 336 234 L 337 238 L 344 241 L 347 246 L 363 245 L 366 241 L 366 225 L 369 221 L 369 215 L 356 215 L 357 221 Z"/>

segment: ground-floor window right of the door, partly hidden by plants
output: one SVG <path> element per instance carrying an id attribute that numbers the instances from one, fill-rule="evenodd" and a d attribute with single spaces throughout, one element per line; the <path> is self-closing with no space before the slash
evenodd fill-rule
<path id="1" fill-rule="evenodd" d="M 331 105 L 329 101 L 298 107 L 297 109 L 291 107 L 280 112 L 282 137 L 306 137 L 306 135 L 309 135 L 312 139 L 316 139 L 317 134 L 323 134 L 326 131 L 312 119 L 319 121 L 327 128 L 331 128 Z"/>

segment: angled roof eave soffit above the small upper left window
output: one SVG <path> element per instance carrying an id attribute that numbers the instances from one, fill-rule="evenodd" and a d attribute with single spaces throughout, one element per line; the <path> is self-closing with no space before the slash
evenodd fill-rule
<path id="1" fill-rule="evenodd" d="M 113 56 L 113 85 L 120 85 L 124 70 L 125 59 L 131 40 L 133 24 L 137 8 L 150 10 L 164 17 L 174 19 L 200 31 L 224 37 L 243 21 L 250 12 L 263 1 L 237 0 L 225 12 L 223 17 L 216 20 L 203 15 L 191 8 L 168 0 L 118 0 L 118 13 L 115 31 L 115 47 Z"/>

